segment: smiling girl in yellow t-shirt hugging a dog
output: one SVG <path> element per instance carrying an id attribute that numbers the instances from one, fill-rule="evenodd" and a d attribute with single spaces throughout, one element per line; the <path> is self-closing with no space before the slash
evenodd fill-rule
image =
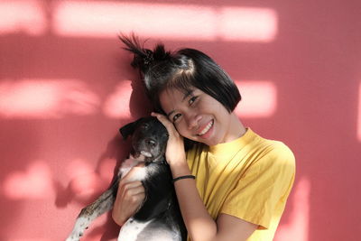
<path id="1" fill-rule="evenodd" d="M 121 40 L 134 52 L 152 115 L 170 134 L 166 160 L 190 240 L 272 240 L 294 180 L 290 149 L 245 128 L 233 112 L 241 99 L 236 85 L 203 52 L 164 51 L 162 44 L 150 51 L 134 36 Z M 116 223 L 143 199 L 142 184 L 125 178 Z"/>

